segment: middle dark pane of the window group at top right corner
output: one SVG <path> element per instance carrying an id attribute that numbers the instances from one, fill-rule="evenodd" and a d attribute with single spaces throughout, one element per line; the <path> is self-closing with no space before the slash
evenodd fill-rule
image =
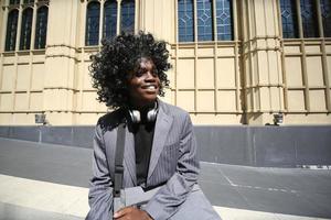
<path id="1" fill-rule="evenodd" d="M 318 37 L 316 0 L 300 0 L 303 37 Z"/>

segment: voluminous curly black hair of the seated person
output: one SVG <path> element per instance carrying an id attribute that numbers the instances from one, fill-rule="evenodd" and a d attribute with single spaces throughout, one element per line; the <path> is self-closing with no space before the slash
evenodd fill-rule
<path id="1" fill-rule="evenodd" d="M 92 55 L 89 66 L 93 88 L 97 89 L 97 100 L 107 107 L 127 107 L 129 102 L 128 77 L 137 61 L 150 58 L 160 78 L 160 96 L 169 86 L 166 72 L 171 68 L 169 51 L 164 41 L 157 41 L 150 33 L 140 31 L 137 35 L 121 33 L 114 38 L 103 40 L 99 53 Z"/>

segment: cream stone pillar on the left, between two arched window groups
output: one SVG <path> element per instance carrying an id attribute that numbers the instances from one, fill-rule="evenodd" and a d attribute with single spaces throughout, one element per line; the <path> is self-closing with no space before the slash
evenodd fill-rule
<path id="1" fill-rule="evenodd" d="M 50 1 L 43 111 L 52 124 L 73 124 L 79 1 Z"/>

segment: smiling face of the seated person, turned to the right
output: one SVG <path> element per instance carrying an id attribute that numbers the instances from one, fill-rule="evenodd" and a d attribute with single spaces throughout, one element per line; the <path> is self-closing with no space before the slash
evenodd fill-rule
<path id="1" fill-rule="evenodd" d="M 137 108 L 151 106 L 157 100 L 160 89 L 160 79 L 156 66 L 149 58 L 142 57 L 138 67 L 129 77 L 130 102 Z"/>

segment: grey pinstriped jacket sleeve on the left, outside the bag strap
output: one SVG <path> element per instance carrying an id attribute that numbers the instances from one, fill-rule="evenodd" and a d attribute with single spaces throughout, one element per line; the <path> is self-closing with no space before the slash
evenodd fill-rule
<path id="1" fill-rule="evenodd" d="M 96 125 L 93 142 L 93 177 L 88 193 L 89 212 L 86 220 L 113 219 L 113 183 L 109 175 L 103 131 Z"/>

